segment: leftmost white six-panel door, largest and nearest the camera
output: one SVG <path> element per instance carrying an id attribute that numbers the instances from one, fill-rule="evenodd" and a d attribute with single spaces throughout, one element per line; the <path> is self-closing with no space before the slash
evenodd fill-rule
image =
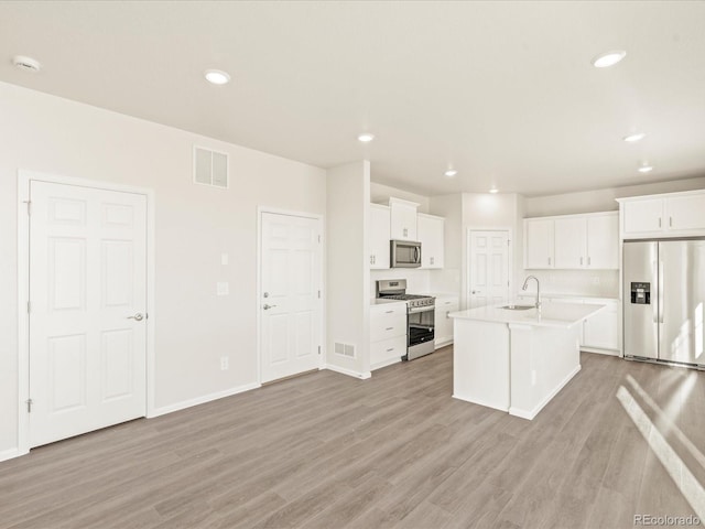
<path id="1" fill-rule="evenodd" d="M 30 446 L 143 417 L 147 197 L 30 184 Z"/>

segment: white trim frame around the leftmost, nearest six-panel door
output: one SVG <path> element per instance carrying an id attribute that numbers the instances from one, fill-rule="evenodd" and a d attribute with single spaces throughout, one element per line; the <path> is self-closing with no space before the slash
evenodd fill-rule
<path id="1" fill-rule="evenodd" d="M 28 207 L 31 182 L 91 187 L 144 195 L 147 198 L 147 402 L 145 417 L 154 417 L 154 191 L 147 187 L 115 184 L 98 180 L 78 179 L 59 174 L 18 170 L 18 454 L 30 452 L 30 216 Z"/>

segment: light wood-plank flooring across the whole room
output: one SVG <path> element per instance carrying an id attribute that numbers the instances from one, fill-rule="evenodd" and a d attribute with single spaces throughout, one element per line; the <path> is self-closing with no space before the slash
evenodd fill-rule
<path id="1" fill-rule="evenodd" d="M 452 361 L 318 371 L 33 450 L 0 463 L 0 527 L 632 528 L 697 509 L 679 486 L 702 500 L 705 373 L 584 353 L 525 421 L 453 399 Z"/>

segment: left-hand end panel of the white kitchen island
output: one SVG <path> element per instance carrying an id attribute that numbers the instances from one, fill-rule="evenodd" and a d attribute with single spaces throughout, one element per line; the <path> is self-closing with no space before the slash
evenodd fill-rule
<path id="1" fill-rule="evenodd" d="M 509 411 L 509 327 L 455 319 L 453 397 Z"/>

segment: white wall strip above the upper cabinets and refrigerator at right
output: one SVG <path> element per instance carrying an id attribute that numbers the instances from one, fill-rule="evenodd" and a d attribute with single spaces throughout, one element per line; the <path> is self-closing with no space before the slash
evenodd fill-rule
<path id="1" fill-rule="evenodd" d="M 705 176 L 672 182 L 629 185 L 625 187 L 609 187 L 582 193 L 567 193 L 564 195 L 536 196 L 525 198 L 525 216 L 544 217 L 551 215 L 571 215 L 574 213 L 611 212 L 619 209 L 619 204 L 615 202 L 615 198 L 703 188 L 705 188 Z"/>

